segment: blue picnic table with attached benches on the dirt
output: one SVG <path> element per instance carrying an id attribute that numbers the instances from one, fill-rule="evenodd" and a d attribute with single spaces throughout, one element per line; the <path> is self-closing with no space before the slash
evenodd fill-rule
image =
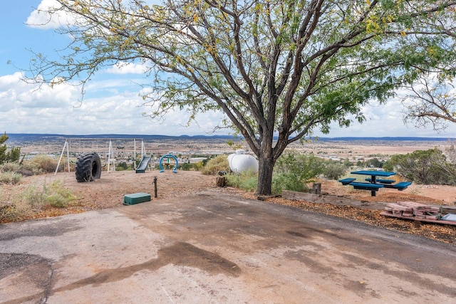
<path id="1" fill-rule="evenodd" d="M 395 179 L 384 178 L 392 177 L 396 174 L 395 172 L 360 170 L 353 171 L 351 174 L 367 175 L 370 177 L 366 178 L 367 182 L 356 182 L 355 178 L 340 179 L 339 182 L 341 182 L 343 185 L 353 186 L 355 189 L 369 190 L 371 191 L 371 196 L 375 196 L 375 193 L 380 188 L 393 188 L 398 189 L 399 191 L 403 191 L 403 189 L 406 189 L 408 186 L 410 186 L 410 184 L 412 184 L 411 182 L 398 182 L 395 184 Z"/>

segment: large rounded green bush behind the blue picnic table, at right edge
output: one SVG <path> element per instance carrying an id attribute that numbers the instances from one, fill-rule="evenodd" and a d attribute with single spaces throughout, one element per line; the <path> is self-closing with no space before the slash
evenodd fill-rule
<path id="1" fill-rule="evenodd" d="M 393 155 L 383 168 L 395 171 L 417 184 L 456 184 L 455 164 L 447 162 L 437 148 Z"/>

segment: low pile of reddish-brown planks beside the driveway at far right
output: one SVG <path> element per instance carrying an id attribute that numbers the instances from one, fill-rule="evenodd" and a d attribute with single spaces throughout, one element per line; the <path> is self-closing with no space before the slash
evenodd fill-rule
<path id="1" fill-rule="evenodd" d="M 386 204 L 385 211 L 380 214 L 383 216 L 414 219 L 415 221 L 430 221 L 433 223 L 456 226 L 456 221 L 440 220 L 443 213 L 440 206 L 418 204 L 414 201 L 398 201 L 397 203 Z"/>

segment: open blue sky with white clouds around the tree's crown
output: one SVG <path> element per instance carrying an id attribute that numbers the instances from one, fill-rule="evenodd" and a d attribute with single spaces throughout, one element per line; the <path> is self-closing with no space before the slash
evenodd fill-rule
<path id="1" fill-rule="evenodd" d="M 55 33 L 52 25 L 37 28 L 36 8 L 52 0 L 4 1 L 0 10 L 0 133 L 53 133 L 62 135 L 229 135 L 232 131 L 214 127 L 224 117 L 221 112 L 205 112 L 197 123 L 187 125 L 185 111 L 175 110 L 163 121 L 143 115 L 150 108 L 142 106 L 138 83 L 144 83 L 140 66 L 107 68 L 90 81 L 81 103 L 81 90 L 68 84 L 25 83 L 23 72 L 36 53 L 53 55 L 68 43 L 66 36 Z M 400 98 L 385 105 L 371 103 L 363 108 L 366 122 L 351 127 L 333 124 L 324 137 L 456 137 L 456 125 L 443 132 L 431 127 L 404 125 Z"/>

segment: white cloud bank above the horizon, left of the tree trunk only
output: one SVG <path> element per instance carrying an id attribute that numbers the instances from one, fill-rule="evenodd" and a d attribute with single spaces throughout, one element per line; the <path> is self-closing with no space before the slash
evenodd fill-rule
<path id="1" fill-rule="evenodd" d="M 80 90 L 68 84 L 38 85 L 21 80 L 22 73 L 0 76 L 0 121 L 7 133 L 61 133 L 131 135 L 202 135 L 209 134 L 222 119 L 216 112 L 197 117 L 198 124 L 185 127 L 188 113 L 175 110 L 162 123 L 144 117 L 150 108 L 142 107 L 138 85 L 120 87 L 113 93 L 113 81 L 93 81 L 82 103 Z M 124 80 L 125 85 L 125 80 Z M 130 90 L 127 90 L 130 89 Z M 136 88 L 136 90 L 133 90 Z"/>

